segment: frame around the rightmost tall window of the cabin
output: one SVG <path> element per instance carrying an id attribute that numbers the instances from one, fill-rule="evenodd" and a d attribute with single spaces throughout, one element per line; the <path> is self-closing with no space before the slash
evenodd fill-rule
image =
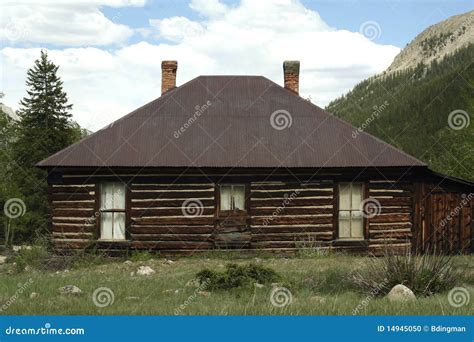
<path id="1" fill-rule="evenodd" d="M 334 184 L 334 193 L 337 194 L 337 197 L 335 198 L 335 201 L 334 201 L 334 222 L 335 222 L 335 235 L 336 235 L 336 240 L 337 241 L 340 241 L 340 242 L 354 242 L 354 243 L 357 243 L 357 242 L 361 242 L 361 241 L 367 241 L 368 239 L 368 220 L 367 218 L 365 217 L 365 215 L 363 215 L 363 213 L 361 213 L 362 215 L 362 237 L 341 237 L 341 234 L 340 234 L 340 212 L 341 211 L 349 211 L 349 217 L 350 217 L 350 231 L 351 231 L 351 235 L 352 235 L 352 212 L 353 211 L 361 211 L 362 212 L 362 208 L 359 209 L 359 210 L 356 210 L 356 209 L 352 209 L 352 186 L 355 185 L 355 184 L 358 184 L 362 187 L 362 192 L 361 192 L 361 202 L 364 201 L 365 199 L 368 198 L 368 184 L 367 182 L 364 182 L 364 181 L 343 181 L 343 182 L 338 182 L 338 183 L 335 183 Z M 347 209 L 342 209 L 340 208 L 340 202 L 341 202 L 341 187 L 344 186 L 344 185 L 350 185 L 351 186 L 351 206 L 350 206 L 350 210 L 347 210 Z"/>

